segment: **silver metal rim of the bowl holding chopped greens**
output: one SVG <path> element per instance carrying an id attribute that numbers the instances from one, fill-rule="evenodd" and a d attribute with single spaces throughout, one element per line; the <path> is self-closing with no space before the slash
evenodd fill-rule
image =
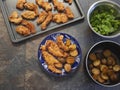
<path id="1" fill-rule="evenodd" d="M 104 38 L 115 38 L 115 37 L 118 37 L 120 35 L 120 33 L 117 33 L 115 35 L 112 35 L 112 36 L 105 36 L 105 35 L 102 35 L 102 34 L 99 34 L 98 32 L 96 32 L 93 27 L 91 26 L 90 24 L 90 14 L 91 14 L 91 10 L 94 8 L 94 6 L 96 6 L 97 4 L 99 3 L 103 3 L 103 2 L 106 2 L 106 3 L 110 3 L 110 4 L 114 4 L 115 6 L 119 7 L 120 8 L 120 5 L 117 4 L 116 2 L 114 1 L 111 1 L 111 0 L 99 0 L 99 1 L 96 1 L 94 2 L 88 9 L 88 12 L 87 12 L 87 21 L 88 21 L 88 25 L 90 27 L 90 29 L 95 33 L 97 34 L 98 36 L 101 36 L 101 37 L 104 37 Z"/>

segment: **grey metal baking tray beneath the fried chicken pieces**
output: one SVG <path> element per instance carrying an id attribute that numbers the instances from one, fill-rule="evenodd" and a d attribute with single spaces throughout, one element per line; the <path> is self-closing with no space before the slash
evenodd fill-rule
<path id="1" fill-rule="evenodd" d="M 35 0 L 27 0 L 27 1 L 35 3 Z M 64 2 L 64 0 L 58 0 L 58 1 Z M 10 23 L 9 20 L 8 20 L 8 17 L 10 16 L 11 12 L 17 11 L 19 13 L 19 15 L 21 14 L 21 12 L 23 12 L 21 10 L 16 9 L 16 3 L 17 3 L 17 0 L 0 0 L 0 7 L 1 7 L 1 10 L 2 10 L 2 14 L 3 14 L 4 20 L 5 20 L 6 26 L 7 26 L 9 36 L 10 36 L 11 41 L 13 43 L 17 43 L 17 42 L 26 40 L 28 38 L 32 38 L 36 35 L 39 35 L 39 34 L 47 32 L 47 31 L 65 26 L 65 25 L 73 23 L 75 21 L 82 20 L 84 18 L 84 13 L 82 11 L 82 8 L 81 8 L 78 0 L 73 0 L 73 3 L 71 5 L 69 5 L 68 3 L 64 3 L 64 5 L 69 6 L 71 8 L 72 12 L 75 15 L 74 19 L 69 20 L 67 23 L 64 23 L 64 24 L 56 24 L 56 23 L 51 22 L 47 26 L 46 30 L 41 30 L 40 25 L 37 25 L 37 23 L 36 23 L 37 19 L 30 20 L 35 25 L 37 32 L 35 34 L 31 34 L 29 36 L 21 36 L 15 31 L 15 28 L 16 28 L 17 25 L 15 25 L 13 23 Z M 41 8 L 39 8 L 39 12 L 40 11 L 42 11 Z M 54 10 L 52 12 L 55 13 Z"/>

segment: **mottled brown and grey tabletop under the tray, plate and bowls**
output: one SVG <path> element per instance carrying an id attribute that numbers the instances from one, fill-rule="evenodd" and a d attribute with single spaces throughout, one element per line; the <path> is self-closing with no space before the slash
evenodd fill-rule
<path id="1" fill-rule="evenodd" d="M 94 83 L 85 69 L 85 55 L 96 42 L 108 40 L 94 34 L 87 23 L 88 8 L 97 0 L 79 0 L 85 18 L 26 41 L 11 42 L 0 11 L 0 90 L 120 90 L 120 85 L 106 88 Z M 120 0 L 113 0 L 120 4 Z M 63 32 L 75 37 L 82 49 L 78 71 L 68 78 L 55 78 L 41 69 L 37 57 L 39 43 L 48 34 Z M 120 36 L 109 39 L 120 43 Z"/>

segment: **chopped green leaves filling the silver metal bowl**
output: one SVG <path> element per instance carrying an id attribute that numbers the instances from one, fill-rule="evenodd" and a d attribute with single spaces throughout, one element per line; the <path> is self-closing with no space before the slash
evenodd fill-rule
<path id="1" fill-rule="evenodd" d="M 120 29 L 120 20 L 116 19 L 119 14 L 112 7 L 101 6 L 92 13 L 90 23 L 99 34 L 110 35 Z"/>

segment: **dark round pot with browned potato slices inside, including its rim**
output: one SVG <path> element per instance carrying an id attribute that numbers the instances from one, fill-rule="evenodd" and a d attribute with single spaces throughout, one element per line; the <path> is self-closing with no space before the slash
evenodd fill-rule
<path id="1" fill-rule="evenodd" d="M 120 84 L 120 44 L 100 41 L 94 44 L 86 56 L 86 70 L 94 82 L 105 87 Z"/>

